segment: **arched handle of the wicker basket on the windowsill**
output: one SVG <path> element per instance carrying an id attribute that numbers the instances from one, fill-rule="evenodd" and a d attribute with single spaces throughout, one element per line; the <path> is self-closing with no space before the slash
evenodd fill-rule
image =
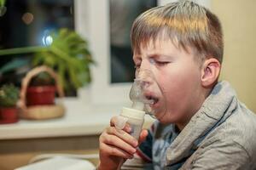
<path id="1" fill-rule="evenodd" d="M 49 68 L 48 66 L 45 66 L 45 65 L 38 66 L 38 67 L 35 67 L 34 69 L 32 69 L 31 71 L 29 71 L 26 74 L 26 77 L 24 77 L 22 79 L 21 89 L 20 89 L 20 101 L 19 101 L 18 105 L 23 109 L 26 109 L 26 89 L 27 89 L 29 83 L 31 82 L 32 77 L 37 76 L 40 72 L 47 72 L 47 73 L 49 73 L 49 76 L 51 76 L 55 79 L 55 86 L 57 88 L 57 93 L 59 94 L 59 96 L 61 98 L 64 97 L 64 92 L 63 92 L 63 88 L 61 87 L 60 79 L 58 78 L 55 71 L 53 71 L 51 68 Z"/>

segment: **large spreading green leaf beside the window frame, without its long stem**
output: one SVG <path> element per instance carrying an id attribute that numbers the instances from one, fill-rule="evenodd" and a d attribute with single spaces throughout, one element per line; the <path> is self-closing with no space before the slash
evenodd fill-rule
<path id="1" fill-rule="evenodd" d="M 53 43 L 47 53 L 35 55 L 34 65 L 49 65 L 56 69 L 65 89 L 80 88 L 90 82 L 90 65 L 94 60 L 88 48 L 88 42 L 75 31 L 61 28 L 51 33 Z M 44 54 L 44 57 L 42 57 Z"/>

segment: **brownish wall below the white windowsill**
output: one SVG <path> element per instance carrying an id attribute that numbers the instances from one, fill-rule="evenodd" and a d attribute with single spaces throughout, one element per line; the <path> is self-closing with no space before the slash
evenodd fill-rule
<path id="1" fill-rule="evenodd" d="M 97 154 L 98 135 L 46 139 L 0 140 L 0 169 L 12 170 L 27 165 L 41 154 Z M 89 161 L 97 164 L 97 159 Z"/>

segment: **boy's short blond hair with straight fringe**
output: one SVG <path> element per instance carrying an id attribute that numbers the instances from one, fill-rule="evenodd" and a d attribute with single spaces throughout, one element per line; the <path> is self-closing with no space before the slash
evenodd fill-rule
<path id="1" fill-rule="evenodd" d="M 149 40 L 168 38 L 178 47 L 197 52 L 200 60 L 223 59 L 223 36 L 218 17 L 192 1 L 168 3 L 140 14 L 131 27 L 131 47 L 139 51 Z"/>

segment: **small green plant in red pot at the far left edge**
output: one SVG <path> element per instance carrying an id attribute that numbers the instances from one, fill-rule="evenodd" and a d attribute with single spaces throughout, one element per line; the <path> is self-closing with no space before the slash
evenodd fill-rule
<path id="1" fill-rule="evenodd" d="M 13 84 L 6 84 L 0 88 L 0 123 L 18 122 L 16 107 L 20 90 Z"/>

